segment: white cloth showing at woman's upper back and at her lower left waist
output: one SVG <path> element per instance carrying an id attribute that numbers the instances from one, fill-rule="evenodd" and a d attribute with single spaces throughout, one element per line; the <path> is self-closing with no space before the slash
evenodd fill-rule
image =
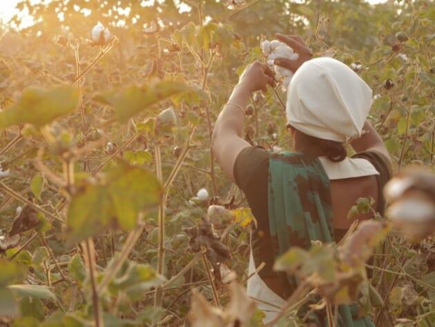
<path id="1" fill-rule="evenodd" d="M 362 158 L 349 158 L 340 162 L 333 162 L 326 157 L 318 157 L 329 179 L 345 179 L 351 177 L 363 177 L 369 175 L 379 175 L 379 172 L 374 166 L 366 159 Z M 252 249 L 252 244 L 251 244 Z M 253 260 L 253 254 L 249 256 L 248 275 L 252 275 L 255 272 L 255 263 Z M 286 301 L 282 299 L 278 294 L 273 292 L 266 283 L 258 276 L 253 275 L 248 279 L 247 295 L 251 297 L 257 304 L 257 308 L 264 313 L 263 323 L 273 320 L 280 308 L 284 307 Z"/>

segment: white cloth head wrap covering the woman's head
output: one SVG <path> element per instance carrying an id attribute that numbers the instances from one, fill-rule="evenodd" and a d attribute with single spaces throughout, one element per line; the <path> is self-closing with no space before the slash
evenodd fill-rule
<path id="1" fill-rule="evenodd" d="M 371 88 L 344 63 L 306 61 L 287 90 L 287 121 L 307 135 L 343 142 L 360 137 L 371 108 Z"/>

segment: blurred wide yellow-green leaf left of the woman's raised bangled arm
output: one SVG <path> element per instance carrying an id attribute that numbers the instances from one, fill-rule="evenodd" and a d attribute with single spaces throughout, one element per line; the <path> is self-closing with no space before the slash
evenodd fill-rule
<path id="1" fill-rule="evenodd" d="M 97 95 L 96 101 L 113 106 L 118 121 L 126 122 L 147 107 L 189 90 L 189 86 L 175 81 L 161 81 L 153 86 L 128 86 Z"/>

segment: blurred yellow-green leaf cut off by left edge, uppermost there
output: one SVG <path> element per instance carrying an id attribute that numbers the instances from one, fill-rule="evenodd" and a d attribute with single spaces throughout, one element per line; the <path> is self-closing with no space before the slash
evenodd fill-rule
<path id="1" fill-rule="evenodd" d="M 0 112 L 0 128 L 23 123 L 41 127 L 77 108 L 77 88 L 30 88 L 25 90 L 17 103 Z"/>

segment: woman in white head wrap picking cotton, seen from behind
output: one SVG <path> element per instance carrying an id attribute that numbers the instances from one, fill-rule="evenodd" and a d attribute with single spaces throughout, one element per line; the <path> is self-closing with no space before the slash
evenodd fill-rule
<path id="1" fill-rule="evenodd" d="M 249 280 L 247 291 L 260 299 L 265 322 L 273 319 L 296 287 L 296 281 L 272 270 L 276 257 L 290 246 L 308 248 L 313 239 L 338 241 L 351 225 L 347 213 L 360 197 L 373 197 L 382 213 L 381 190 L 391 175 L 387 149 L 366 121 L 372 93 L 365 81 L 340 61 L 311 59 L 300 37 L 276 37 L 299 54 L 297 61 L 275 61 L 295 73 L 286 108 L 294 152 L 272 153 L 240 137 L 252 92 L 274 85 L 271 71 L 258 61 L 240 77 L 212 136 L 215 158 L 244 191 L 258 223 L 249 271 L 263 261 L 266 266 Z M 357 152 L 351 158 L 343 146 L 346 141 Z M 340 309 L 340 315 L 349 317 L 349 311 Z M 343 319 L 343 326 L 373 326 L 366 320 L 360 325 Z"/>

